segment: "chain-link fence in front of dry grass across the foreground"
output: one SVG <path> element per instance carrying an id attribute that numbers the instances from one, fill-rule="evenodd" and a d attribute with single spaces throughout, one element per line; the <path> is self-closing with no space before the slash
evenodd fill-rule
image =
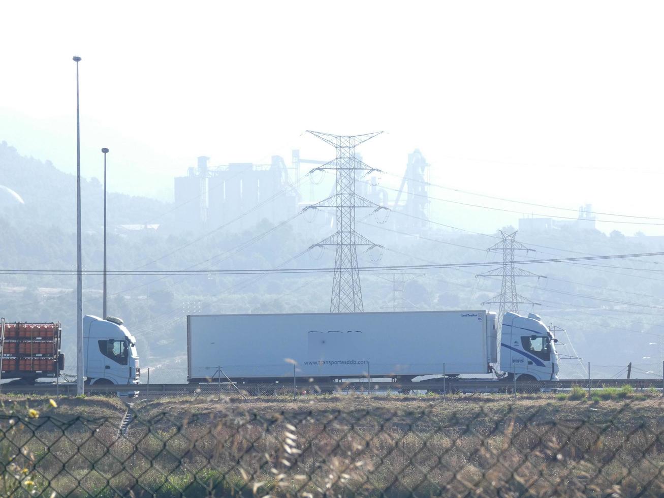
<path id="1" fill-rule="evenodd" d="M 553 401 L 553 400 L 550 400 Z M 661 496 L 663 403 L 318 404 L 0 416 L 0 493 L 46 497 Z M 440 409 L 441 406 L 446 408 Z M 161 404 L 159 406 L 162 406 Z M 299 406 L 307 406 L 301 404 Z M 253 408 L 252 408 L 253 407 Z M 412 408 L 412 405 L 409 405 Z M 427 408 L 428 407 L 428 408 Z M 203 413 L 205 411 L 205 413 Z"/>

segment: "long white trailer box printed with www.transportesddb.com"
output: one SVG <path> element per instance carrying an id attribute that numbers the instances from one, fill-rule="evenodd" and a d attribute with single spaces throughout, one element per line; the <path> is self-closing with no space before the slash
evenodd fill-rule
<path id="1" fill-rule="evenodd" d="M 189 378 L 488 373 L 487 322 L 483 310 L 191 315 Z"/>

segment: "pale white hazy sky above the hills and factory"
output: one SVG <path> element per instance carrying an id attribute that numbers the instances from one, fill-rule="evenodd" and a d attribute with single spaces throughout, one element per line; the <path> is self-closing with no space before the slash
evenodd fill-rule
<path id="1" fill-rule="evenodd" d="M 169 199 L 198 155 L 267 163 L 300 148 L 327 159 L 333 149 L 303 131 L 384 130 L 359 151 L 390 173 L 419 147 L 435 183 L 664 218 L 663 11 L 646 1 L 5 3 L 0 140 L 74 171 L 76 54 L 83 174 L 101 176 L 109 147 L 116 191 Z M 480 230 L 519 216 L 436 207 Z"/>

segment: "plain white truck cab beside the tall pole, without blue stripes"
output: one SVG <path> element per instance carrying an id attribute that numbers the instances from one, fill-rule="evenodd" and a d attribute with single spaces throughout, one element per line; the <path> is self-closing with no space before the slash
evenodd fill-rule
<path id="1" fill-rule="evenodd" d="M 139 383 L 141 369 L 136 339 L 121 319 L 86 315 L 83 317 L 83 336 L 86 384 Z"/>

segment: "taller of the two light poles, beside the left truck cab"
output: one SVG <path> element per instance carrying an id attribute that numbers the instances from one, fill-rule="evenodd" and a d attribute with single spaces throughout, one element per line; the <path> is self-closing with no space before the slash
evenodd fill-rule
<path id="1" fill-rule="evenodd" d="M 81 127 L 78 106 L 78 62 L 76 62 L 76 394 L 83 394 L 83 264 L 81 258 Z"/>

